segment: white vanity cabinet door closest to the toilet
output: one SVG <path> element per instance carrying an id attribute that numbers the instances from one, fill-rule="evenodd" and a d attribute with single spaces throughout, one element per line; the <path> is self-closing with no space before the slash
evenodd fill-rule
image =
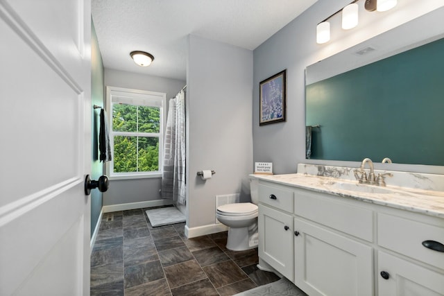
<path id="1" fill-rule="evenodd" d="M 293 216 L 259 204 L 259 257 L 293 281 Z"/>

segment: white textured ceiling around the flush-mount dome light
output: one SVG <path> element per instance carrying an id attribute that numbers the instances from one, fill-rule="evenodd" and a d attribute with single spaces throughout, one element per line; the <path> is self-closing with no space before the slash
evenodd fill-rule
<path id="1" fill-rule="evenodd" d="M 253 50 L 317 0 L 92 0 L 106 68 L 186 79 L 187 35 Z M 155 60 L 139 67 L 131 51 Z"/>

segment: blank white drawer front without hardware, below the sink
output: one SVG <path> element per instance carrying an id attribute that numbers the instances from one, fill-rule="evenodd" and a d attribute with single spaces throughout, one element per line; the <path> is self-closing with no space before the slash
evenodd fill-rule
<path id="1" fill-rule="evenodd" d="M 296 189 L 294 214 L 345 232 L 366 241 L 373 241 L 373 211 L 356 207 L 350 201 L 304 189 Z"/>

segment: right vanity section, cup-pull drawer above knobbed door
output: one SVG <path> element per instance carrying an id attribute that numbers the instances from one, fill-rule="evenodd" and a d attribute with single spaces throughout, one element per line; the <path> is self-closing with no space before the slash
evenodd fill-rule
<path id="1" fill-rule="evenodd" d="M 444 252 L 422 244 L 444 243 L 444 221 L 400 211 L 377 217 L 379 296 L 444 295 Z"/>

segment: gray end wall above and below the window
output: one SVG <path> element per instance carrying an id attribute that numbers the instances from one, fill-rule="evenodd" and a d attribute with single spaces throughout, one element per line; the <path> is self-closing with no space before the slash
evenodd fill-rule
<path id="1" fill-rule="evenodd" d="M 185 83 L 183 80 L 105 68 L 105 86 L 164 92 L 167 93 L 167 103 L 169 98 L 173 98 L 180 92 Z M 160 178 L 110 180 L 110 188 L 103 193 L 103 205 L 160 200 L 160 180 Z"/>

